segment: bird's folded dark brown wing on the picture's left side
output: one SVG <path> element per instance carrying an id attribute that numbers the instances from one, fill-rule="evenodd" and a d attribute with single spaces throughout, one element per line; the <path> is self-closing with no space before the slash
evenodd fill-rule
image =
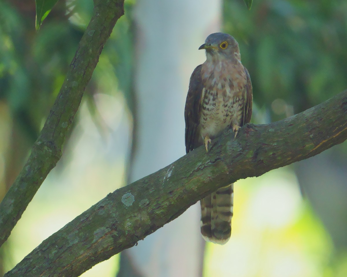
<path id="1" fill-rule="evenodd" d="M 186 122 L 185 144 L 186 153 L 194 149 L 196 139 L 196 129 L 200 122 L 201 95 L 203 84 L 201 80 L 201 64 L 198 65 L 191 76 L 189 89 L 184 109 L 184 119 Z"/>

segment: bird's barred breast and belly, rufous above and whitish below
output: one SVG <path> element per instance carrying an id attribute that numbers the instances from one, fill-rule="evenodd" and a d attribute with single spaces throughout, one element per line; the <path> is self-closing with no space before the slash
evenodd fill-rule
<path id="1" fill-rule="evenodd" d="M 199 143 L 204 137 L 215 139 L 233 125 L 239 125 L 243 115 L 246 73 L 241 63 L 222 61 L 217 65 L 202 65 L 204 89 L 201 97 Z"/>

